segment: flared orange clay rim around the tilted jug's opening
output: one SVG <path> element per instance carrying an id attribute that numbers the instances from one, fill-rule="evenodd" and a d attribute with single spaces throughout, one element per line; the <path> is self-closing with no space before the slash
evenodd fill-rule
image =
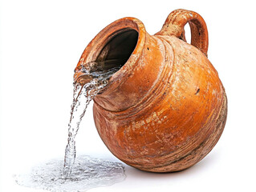
<path id="1" fill-rule="evenodd" d="M 140 58 L 146 39 L 146 30 L 144 24 L 139 19 L 130 17 L 120 18 L 115 22 L 112 22 L 91 40 L 91 42 L 83 51 L 81 58 L 79 59 L 79 63 L 75 68 L 75 72 L 78 70 L 79 66 L 86 65 L 88 62 L 95 61 L 95 59 L 100 54 L 100 51 L 103 50 L 104 46 L 113 37 L 115 37 L 116 34 L 120 34 L 120 32 L 124 32 L 125 30 L 129 29 L 136 30 L 138 33 L 136 46 L 120 70 L 116 71 L 116 73 L 113 74 L 111 78 L 109 78 L 108 86 L 104 87 L 104 89 L 101 90 L 99 94 L 108 94 L 109 91 L 115 90 L 118 86 L 120 86 L 120 84 L 126 81 L 129 75 L 132 73 L 132 70 L 136 68 L 136 61 L 138 58 Z M 74 79 L 75 78 L 78 79 L 79 76 L 75 74 Z"/>

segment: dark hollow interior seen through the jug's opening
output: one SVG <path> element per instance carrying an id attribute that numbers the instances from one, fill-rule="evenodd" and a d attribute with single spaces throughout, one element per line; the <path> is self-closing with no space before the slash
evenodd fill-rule
<path id="1" fill-rule="evenodd" d="M 95 62 L 103 70 L 113 67 L 121 68 L 128 61 L 138 41 L 138 32 L 131 28 L 117 31 L 116 34 L 104 45 Z"/>

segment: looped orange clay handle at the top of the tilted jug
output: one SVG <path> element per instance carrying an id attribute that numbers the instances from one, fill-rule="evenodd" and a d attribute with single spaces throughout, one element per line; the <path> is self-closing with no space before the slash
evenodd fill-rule
<path id="1" fill-rule="evenodd" d="M 191 10 L 173 10 L 165 20 L 165 24 L 159 35 L 174 35 L 177 38 L 185 39 L 185 24 L 189 22 L 191 30 L 191 45 L 196 46 L 207 57 L 208 30 L 204 19 L 200 14 Z"/>

